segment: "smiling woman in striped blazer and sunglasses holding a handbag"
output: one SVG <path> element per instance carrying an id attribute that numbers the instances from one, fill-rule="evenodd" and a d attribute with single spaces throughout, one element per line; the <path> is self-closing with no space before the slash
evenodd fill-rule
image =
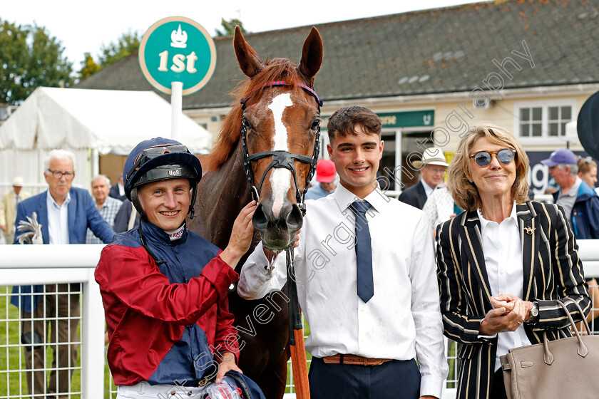
<path id="1" fill-rule="evenodd" d="M 449 190 L 466 212 L 439 224 L 436 255 L 444 333 L 463 344 L 458 398 L 506 398 L 499 356 L 540 343 L 543 330 L 570 336 L 558 299 L 590 311 L 567 217 L 528 201 L 528 163 L 511 133 L 478 125 L 449 166 Z"/>

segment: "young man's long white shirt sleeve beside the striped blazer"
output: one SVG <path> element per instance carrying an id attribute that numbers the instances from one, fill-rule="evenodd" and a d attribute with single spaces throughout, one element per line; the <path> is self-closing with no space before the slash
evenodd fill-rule
<path id="1" fill-rule="evenodd" d="M 441 398 L 449 367 L 444 351 L 433 237 L 424 214 L 414 232 L 410 280 L 411 314 L 416 327 L 416 356 L 421 373 L 420 393 Z"/>

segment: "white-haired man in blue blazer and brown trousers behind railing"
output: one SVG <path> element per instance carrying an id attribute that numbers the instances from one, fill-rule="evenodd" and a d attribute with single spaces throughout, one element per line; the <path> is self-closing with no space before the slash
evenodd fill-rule
<path id="1" fill-rule="evenodd" d="M 43 244 L 85 244 L 87 229 L 102 242 L 111 242 L 114 231 L 101 217 L 88 190 L 71 187 L 75 178 L 75 155 L 71 151 L 52 150 L 43 162 L 43 176 L 48 190 L 24 199 L 16 211 L 15 225 L 27 222 L 36 214 L 41 224 Z M 14 244 L 25 232 L 17 231 Z M 31 295 L 31 293 L 35 295 Z M 45 286 L 14 286 L 11 304 L 21 310 L 24 336 L 29 343 L 45 345 L 24 346 L 29 395 L 48 393 L 66 398 L 75 371 L 81 318 L 79 305 L 81 284 L 46 284 Z M 21 336 L 21 343 L 26 343 Z M 47 336 L 47 337 L 46 337 Z M 31 339 L 31 337 L 34 337 Z M 47 340 L 46 340 L 47 338 Z M 58 345 L 51 342 L 58 342 Z M 53 353 L 49 379 L 46 378 L 46 348 Z M 46 380 L 48 381 L 47 387 Z"/>

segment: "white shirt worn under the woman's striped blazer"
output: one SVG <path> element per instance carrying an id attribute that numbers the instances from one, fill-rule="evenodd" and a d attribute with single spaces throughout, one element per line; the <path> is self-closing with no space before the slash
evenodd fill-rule
<path id="1" fill-rule="evenodd" d="M 524 271 L 516 202 L 513 203 L 510 216 L 503 219 L 501 224 L 485 219 L 480 209 L 478 218 L 481 219 L 483 253 L 491 294 L 512 294 L 522 298 Z M 495 371 L 501 367 L 500 356 L 508 353 L 510 349 L 526 345 L 531 345 L 531 341 L 526 336 L 523 325 L 516 331 L 498 333 Z"/>

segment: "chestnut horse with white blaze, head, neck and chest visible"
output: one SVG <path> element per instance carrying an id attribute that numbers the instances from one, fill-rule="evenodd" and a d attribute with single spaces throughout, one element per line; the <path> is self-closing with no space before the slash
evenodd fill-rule
<path id="1" fill-rule="evenodd" d="M 199 217 L 189 225 L 225 248 L 235 217 L 253 195 L 258 204 L 252 224 L 259 234 L 250 252 L 259 239 L 268 249 L 280 250 L 295 242 L 302 227 L 304 189 L 318 157 L 322 102 L 312 85 L 322 63 L 322 39 L 312 28 L 297 66 L 287 58 L 262 61 L 238 27 L 233 44 L 249 79 L 234 92 L 236 102 L 213 152 L 201 159 L 208 172 L 198 187 Z M 260 301 L 245 301 L 233 292 L 229 300 L 240 332 L 240 368 L 266 398 L 282 398 L 289 359 L 286 292 Z"/>

